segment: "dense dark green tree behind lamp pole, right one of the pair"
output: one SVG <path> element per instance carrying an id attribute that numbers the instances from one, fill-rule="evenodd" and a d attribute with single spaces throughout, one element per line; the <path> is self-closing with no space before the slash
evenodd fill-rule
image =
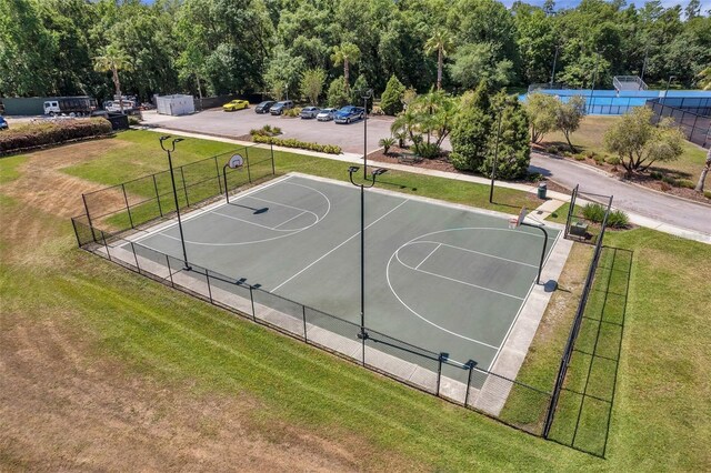
<path id="1" fill-rule="evenodd" d="M 531 162 L 529 140 L 529 120 L 519 99 L 507 97 L 503 92 L 492 99 L 491 110 L 500 110 L 501 133 L 495 175 L 499 179 L 520 179 L 528 174 Z M 492 117 L 493 121 L 493 117 Z M 479 168 L 482 174 L 489 174 L 497 158 L 497 132 L 491 130 L 487 141 L 487 158 Z"/>

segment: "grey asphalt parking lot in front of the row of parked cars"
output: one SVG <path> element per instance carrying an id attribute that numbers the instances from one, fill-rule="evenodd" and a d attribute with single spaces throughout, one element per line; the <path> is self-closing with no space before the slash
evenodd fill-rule
<path id="1" fill-rule="evenodd" d="M 378 148 L 381 138 L 390 137 L 392 117 L 370 117 L 368 119 L 368 152 Z M 279 138 L 296 138 L 301 141 L 322 144 L 337 144 L 343 152 L 362 154 L 363 122 L 336 124 L 333 121 L 319 122 L 316 119 L 274 117 L 268 113 L 254 113 L 254 104 L 247 110 L 224 112 L 222 109 L 210 109 L 186 117 L 158 114 L 154 110 L 143 112 L 143 122 L 151 127 L 164 127 L 174 130 L 218 134 L 239 138 L 249 134 L 252 129 L 266 124 L 280 127 Z"/>

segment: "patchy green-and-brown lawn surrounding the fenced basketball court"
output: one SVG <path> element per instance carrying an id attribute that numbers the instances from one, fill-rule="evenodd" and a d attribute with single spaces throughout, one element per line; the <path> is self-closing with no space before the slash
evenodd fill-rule
<path id="1" fill-rule="evenodd" d="M 152 160 L 142 140 L 151 141 L 136 132 L 102 142 L 113 159 L 87 158 L 87 165 L 98 160 L 104 167 L 93 164 L 88 175 L 116 183 L 146 172 L 153 161 L 141 164 L 141 157 Z M 3 471 L 703 471 L 711 464 L 709 245 L 643 229 L 609 234 L 608 245 L 633 256 L 612 425 L 601 460 L 400 385 L 77 250 L 68 218 L 78 213 L 81 191 L 96 183 L 70 168 L 71 177 L 59 170 L 54 178 L 76 185 L 72 192 L 49 188 L 43 201 L 22 192 L 36 181 L 34 169 L 47 169 L 48 157 L 68 149 L 32 153 L 18 164 L 0 160 Z M 280 154 L 278 165 L 280 172 L 348 178 L 343 163 L 292 153 Z M 394 172 L 389 178 L 402 191 L 455 202 L 488 197 L 485 187 Z M 527 199 L 507 195 L 515 205 Z M 579 268 L 565 271 L 561 281 L 573 281 Z M 539 361 L 547 349 L 540 346 Z"/>

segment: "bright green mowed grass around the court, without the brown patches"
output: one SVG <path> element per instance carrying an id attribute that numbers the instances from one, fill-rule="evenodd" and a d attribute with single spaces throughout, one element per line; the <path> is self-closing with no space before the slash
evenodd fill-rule
<path id="1" fill-rule="evenodd" d="M 342 179 L 343 163 L 289 160 L 301 172 Z M 401 179 L 410 192 L 442 192 L 455 202 L 487 195 L 485 188 L 482 193 L 445 180 Z M 12 313 L 12 324 L 32 324 L 52 311 L 71 314 L 91 346 L 82 355 L 121 361 L 127 383 L 148 376 L 166 389 L 190 386 L 186 396 L 248 396 L 266 431 L 271 421 L 287 422 L 347 450 L 353 442 L 365 445 L 359 456 L 363 469 L 399 464 L 398 459 L 425 471 L 703 471 L 711 464 L 709 245 L 643 229 L 607 238 L 608 245 L 633 256 L 608 455 L 601 460 L 383 379 L 77 250 L 71 224 L 42 209 L 3 197 L 0 211 L 44 229 L 31 242 L 0 233 L 0 248 L 14 255 L 0 262 L 3 312 Z"/>

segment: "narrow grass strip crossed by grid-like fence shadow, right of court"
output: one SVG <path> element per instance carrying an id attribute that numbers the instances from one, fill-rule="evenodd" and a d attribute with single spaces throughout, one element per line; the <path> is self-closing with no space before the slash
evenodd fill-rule
<path id="1" fill-rule="evenodd" d="M 549 436 L 600 457 L 610 432 L 632 254 L 603 249 Z"/>

